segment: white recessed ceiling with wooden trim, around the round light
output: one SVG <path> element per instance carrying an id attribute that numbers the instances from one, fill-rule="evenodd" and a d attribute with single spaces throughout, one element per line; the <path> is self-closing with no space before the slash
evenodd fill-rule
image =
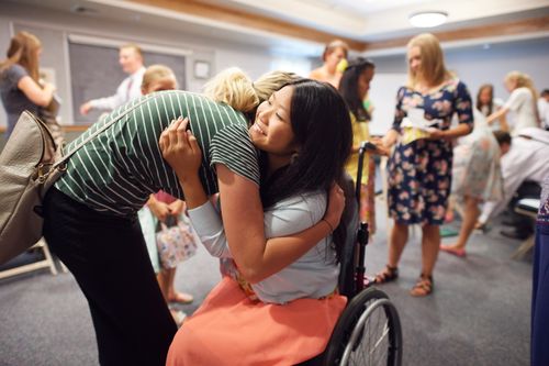
<path id="1" fill-rule="evenodd" d="M 549 0 L 19 0 L 12 3 L 122 22 L 138 21 L 160 29 L 184 29 L 191 34 L 250 45 L 288 45 L 302 48 L 303 53 L 317 53 L 318 46 L 332 37 L 355 42 L 351 46 L 359 51 L 376 43 L 382 44 L 381 47 L 389 47 L 391 42 L 393 46 L 402 46 L 396 41 L 423 32 L 411 26 L 408 15 L 424 10 L 448 13 L 447 23 L 429 31 L 453 32 L 453 38 L 460 36 L 461 31 L 456 30 L 530 19 L 537 19 L 539 24 L 544 22 L 541 16 L 549 16 Z M 85 10 L 76 12 L 76 9 Z M 208 9 L 231 14 L 209 16 Z M 284 33 L 285 27 L 296 31 Z M 549 25 L 540 29 L 537 36 L 549 36 Z M 316 35 L 305 34 L 311 32 Z"/>

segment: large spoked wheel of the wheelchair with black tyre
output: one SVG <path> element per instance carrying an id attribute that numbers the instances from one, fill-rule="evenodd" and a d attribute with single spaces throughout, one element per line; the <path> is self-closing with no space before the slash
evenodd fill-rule
<path id="1" fill-rule="evenodd" d="M 400 366 L 402 330 L 388 296 L 367 288 L 339 318 L 324 356 L 324 365 Z"/>

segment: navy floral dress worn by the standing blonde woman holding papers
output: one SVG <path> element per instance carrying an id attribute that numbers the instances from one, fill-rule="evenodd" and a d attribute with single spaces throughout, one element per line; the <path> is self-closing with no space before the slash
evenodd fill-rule
<path id="1" fill-rule="evenodd" d="M 459 79 L 450 79 L 437 91 L 423 95 L 402 87 L 396 95 L 393 129 L 410 109 L 423 109 L 426 120 L 439 120 L 436 127 L 448 130 L 455 113 L 459 123 L 473 127 L 471 95 Z M 452 145 L 447 140 L 419 138 L 399 142 L 389 160 L 389 212 L 400 224 L 440 225 L 444 222 L 451 185 Z"/>

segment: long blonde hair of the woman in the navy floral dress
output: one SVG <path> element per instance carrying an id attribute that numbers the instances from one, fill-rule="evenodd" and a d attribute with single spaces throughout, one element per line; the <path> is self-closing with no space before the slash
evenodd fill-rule
<path id="1" fill-rule="evenodd" d="M 410 40 L 407 49 L 419 47 L 422 56 L 422 76 L 430 86 L 437 86 L 444 80 L 452 77 L 452 74 L 446 69 L 442 48 L 438 38 L 430 33 L 423 33 Z M 417 75 L 412 71 L 408 63 L 407 86 L 414 88 L 417 84 Z"/>

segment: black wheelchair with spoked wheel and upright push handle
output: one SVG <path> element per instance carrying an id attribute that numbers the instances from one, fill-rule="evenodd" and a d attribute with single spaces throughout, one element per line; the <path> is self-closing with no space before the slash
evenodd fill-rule
<path id="1" fill-rule="evenodd" d="M 326 350 L 299 366 L 388 365 L 402 363 L 402 329 L 399 312 L 381 290 L 365 285 L 365 248 L 368 244 L 368 224 L 359 222 L 360 182 L 368 144 L 359 148 L 356 200 L 347 229 L 347 241 L 340 263 L 339 292 L 348 303 L 338 319 Z M 349 177 L 350 180 L 350 177 Z M 352 181 L 349 181 L 352 185 Z"/>

